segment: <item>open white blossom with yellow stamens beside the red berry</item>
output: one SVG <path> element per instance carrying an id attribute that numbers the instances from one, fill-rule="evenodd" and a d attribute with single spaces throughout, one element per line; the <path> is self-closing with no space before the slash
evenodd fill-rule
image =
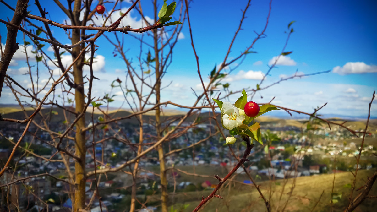
<path id="1" fill-rule="evenodd" d="M 239 108 L 228 101 L 222 104 L 221 113 L 224 114 L 222 116 L 222 124 L 229 130 L 240 126 L 245 119 L 245 115 L 239 114 Z"/>

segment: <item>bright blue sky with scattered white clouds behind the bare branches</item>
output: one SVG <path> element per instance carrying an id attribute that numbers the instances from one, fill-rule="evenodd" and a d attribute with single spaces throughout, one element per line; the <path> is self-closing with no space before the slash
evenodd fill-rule
<path id="1" fill-rule="evenodd" d="M 6 1 L 14 6 L 14 1 Z M 153 17 L 153 12 L 148 6 L 150 1 L 141 1 L 144 14 Z M 168 4 L 171 1 L 168 0 Z M 51 1 L 41 1 L 49 11 L 48 18 L 63 23 L 67 17 L 59 12 L 57 6 Z M 46 6 L 48 3 L 48 6 Z M 39 15 L 34 2 L 30 2 L 32 14 Z M 162 4 L 162 0 L 161 0 Z M 201 73 L 205 82 L 208 74 L 215 64 L 219 65 L 227 52 L 228 45 L 238 28 L 241 18 L 241 9 L 246 1 L 194 1 L 190 5 L 190 19 L 193 28 L 193 38 L 199 56 Z M 95 5 L 95 3 L 93 3 Z M 104 5 L 107 9 L 112 3 Z M 125 11 L 130 3 L 124 1 L 121 5 Z M 180 4 L 177 6 L 179 9 Z M 119 9 L 119 7 L 117 8 Z M 278 56 L 287 39 L 287 25 L 291 21 L 294 33 L 288 42 L 286 51 L 293 51 L 287 57 L 281 57 L 270 75 L 267 76 L 261 87 L 267 86 L 284 76 L 293 75 L 296 70 L 299 74 L 310 74 L 332 70 L 330 73 L 284 81 L 264 91 L 258 92 L 253 101 L 265 103 L 273 97 L 272 103 L 297 109 L 305 112 L 313 108 L 328 105 L 322 109 L 323 114 L 339 114 L 350 116 L 365 116 L 368 114 L 368 103 L 372 93 L 377 88 L 377 3 L 370 1 L 278 1 L 272 2 L 271 16 L 263 38 L 254 45 L 253 51 L 257 54 L 248 54 L 244 62 L 225 79 L 230 83 L 230 90 L 236 91 L 243 88 L 255 88 L 268 70 L 268 64 Z M 12 12 L 4 8 L 0 14 L 3 20 L 11 19 Z M 178 12 L 178 11 L 176 11 Z M 239 55 L 252 40 L 256 32 L 264 28 L 268 14 L 268 1 L 253 0 L 247 11 L 243 30 L 239 33 L 232 48 L 229 59 Z M 118 15 L 119 16 L 119 15 Z M 101 18 L 95 23 L 102 23 Z M 38 22 L 34 22 L 38 23 Z M 123 25 L 139 28 L 140 17 L 132 11 Z M 38 23 L 38 25 L 42 25 Z M 6 27 L 0 25 L 2 44 L 5 43 Z M 69 43 L 64 31 L 53 28 L 53 33 L 61 43 Z M 113 36 L 107 33 L 109 37 Z M 135 34 L 136 36 L 140 36 Z M 139 55 L 138 41 L 123 35 L 125 43 L 130 49 L 127 57 L 135 58 Z M 23 43 L 22 34 L 18 33 L 18 42 Z M 125 65 L 119 57 L 113 57 L 113 48 L 101 37 L 97 43 L 99 50 L 96 52 L 98 60 L 95 76 L 101 80 L 93 93 L 100 97 L 110 92 L 110 83 L 116 78 L 124 80 Z M 44 50 L 52 55 L 48 49 Z M 110 46 L 110 47 L 109 47 Z M 30 51 L 32 49 L 29 49 Z M 148 48 L 143 48 L 145 55 Z M 152 50 L 152 49 L 150 49 Z M 20 50 L 19 50 L 20 51 Z M 21 52 L 16 53 L 12 66 L 7 74 L 15 80 L 28 84 L 25 59 Z M 67 63 L 69 55 L 66 54 Z M 64 57 L 64 55 L 63 55 Z M 146 56 L 145 56 L 146 57 Z M 239 62 L 239 61 L 237 61 Z M 35 61 L 34 61 L 35 63 Z M 136 65 L 135 65 L 136 67 Z M 233 67 L 233 66 L 231 66 Z M 225 73 L 228 69 L 224 70 Z M 222 71 L 222 72 L 224 72 Z M 46 71 L 40 69 L 40 80 L 47 77 Z M 182 80 L 184 79 L 184 80 Z M 170 84 L 171 83 L 171 84 Z M 195 57 L 193 55 L 190 34 L 187 22 L 184 24 L 180 39 L 175 46 L 173 61 L 162 80 L 163 85 L 169 85 L 162 92 L 162 101 L 174 100 L 179 104 L 190 106 L 195 100 L 195 95 L 190 88 L 200 91 L 200 80 L 197 74 Z M 120 106 L 124 97 L 120 90 L 113 90 L 116 94 L 115 101 L 110 106 Z M 231 96 L 230 101 L 235 101 L 238 95 Z M 263 97 L 263 98 L 261 98 Z M 9 88 L 3 88 L 1 103 L 16 103 Z M 282 111 L 284 113 L 284 111 Z M 377 115 L 377 103 L 372 105 L 372 115 Z"/>

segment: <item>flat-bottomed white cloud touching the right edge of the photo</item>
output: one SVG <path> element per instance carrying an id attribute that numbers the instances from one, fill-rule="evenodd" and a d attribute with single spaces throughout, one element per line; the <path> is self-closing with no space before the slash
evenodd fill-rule
<path id="1" fill-rule="evenodd" d="M 333 72 L 340 75 L 372 73 L 377 72 L 377 66 L 369 66 L 363 62 L 348 62 L 343 67 L 334 67 Z"/>

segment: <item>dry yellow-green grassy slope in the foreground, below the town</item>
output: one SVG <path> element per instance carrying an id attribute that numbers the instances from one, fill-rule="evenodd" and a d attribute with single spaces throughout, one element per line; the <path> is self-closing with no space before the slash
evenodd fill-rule
<path id="1" fill-rule="evenodd" d="M 356 187 L 363 185 L 363 180 L 367 180 L 367 176 L 371 176 L 373 171 L 371 170 L 360 170 L 358 173 L 358 180 L 356 181 Z M 317 204 L 314 211 L 330 211 L 330 200 L 331 200 L 331 189 L 333 186 L 334 174 L 317 175 L 297 178 L 296 187 L 292 192 L 292 196 L 288 201 L 285 211 L 310 211 L 313 209 L 316 202 L 319 200 L 322 191 L 325 190 L 320 202 Z M 352 184 L 352 174 L 349 172 L 337 173 L 334 184 L 334 192 L 342 193 L 342 199 L 333 204 L 333 211 L 343 211 L 348 203 L 349 195 L 351 194 L 351 189 L 344 187 L 345 184 Z M 276 182 L 280 185 L 273 184 L 272 190 L 275 192 L 272 194 L 271 203 L 273 210 L 276 211 L 279 205 L 279 210 L 281 211 L 287 198 L 289 197 L 288 192 L 291 188 L 293 179 L 288 180 L 287 186 L 285 187 L 284 194 L 279 203 L 279 197 L 282 193 L 282 187 L 284 184 L 283 180 L 277 180 Z M 235 186 L 235 187 L 234 187 Z M 269 182 L 262 183 L 261 190 L 265 197 L 269 196 Z M 250 192 L 251 190 L 251 192 Z M 190 204 L 190 206 L 184 211 L 192 211 L 200 201 L 201 195 L 208 195 L 208 191 L 205 192 L 187 192 L 181 195 L 179 202 Z M 354 194 L 359 192 L 354 192 Z M 203 212 L 222 212 L 222 211 L 266 211 L 264 202 L 259 197 L 257 190 L 254 186 L 246 186 L 244 184 L 232 185 L 231 191 L 225 188 L 218 192 L 219 195 L 224 197 L 224 199 L 213 198 L 209 203 L 207 203 L 202 210 Z M 377 195 L 377 186 L 374 184 L 369 195 Z M 355 195 L 354 195 L 355 196 Z M 196 200 L 195 200 L 196 199 Z M 195 200 L 195 201 L 193 201 Z M 175 204 L 174 209 L 179 209 L 182 204 Z M 377 202 L 374 199 L 365 200 L 362 205 L 360 205 L 356 211 L 374 211 L 374 207 L 377 206 Z"/>

